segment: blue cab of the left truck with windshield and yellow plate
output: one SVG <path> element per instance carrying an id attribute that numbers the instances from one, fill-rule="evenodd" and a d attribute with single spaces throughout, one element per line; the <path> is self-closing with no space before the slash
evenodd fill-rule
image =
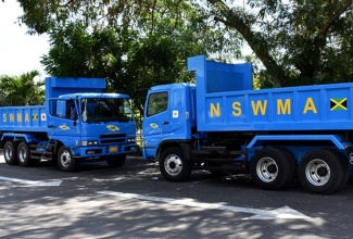
<path id="1" fill-rule="evenodd" d="M 73 166 L 72 158 L 101 158 L 114 165 L 137 151 L 128 96 L 73 93 L 51 99 L 49 105 L 48 136 L 71 149 L 71 155 L 62 155 L 61 167 Z"/>

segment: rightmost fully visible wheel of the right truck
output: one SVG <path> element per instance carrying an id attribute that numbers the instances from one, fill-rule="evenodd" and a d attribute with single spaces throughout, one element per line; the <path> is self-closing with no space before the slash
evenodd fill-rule
<path id="1" fill-rule="evenodd" d="M 325 149 L 312 151 L 302 159 L 298 177 L 306 191 L 320 194 L 335 192 L 345 178 L 339 156 Z"/>

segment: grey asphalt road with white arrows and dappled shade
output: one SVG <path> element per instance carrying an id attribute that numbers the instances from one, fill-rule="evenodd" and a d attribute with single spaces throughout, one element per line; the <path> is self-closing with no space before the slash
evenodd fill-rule
<path id="1" fill-rule="evenodd" d="M 0 156 L 0 238 L 352 238 L 352 184 L 318 196 L 207 172 L 169 183 L 138 158 L 64 173 Z"/>

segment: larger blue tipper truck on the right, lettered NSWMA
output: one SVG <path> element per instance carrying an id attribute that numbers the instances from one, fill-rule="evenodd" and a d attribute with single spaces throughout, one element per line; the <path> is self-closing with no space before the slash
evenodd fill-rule
<path id="1" fill-rule="evenodd" d="M 143 158 L 184 181 L 193 169 L 251 174 L 269 190 L 293 180 L 332 193 L 352 175 L 353 84 L 252 89 L 252 65 L 188 59 L 196 84 L 154 86 L 143 115 Z"/>

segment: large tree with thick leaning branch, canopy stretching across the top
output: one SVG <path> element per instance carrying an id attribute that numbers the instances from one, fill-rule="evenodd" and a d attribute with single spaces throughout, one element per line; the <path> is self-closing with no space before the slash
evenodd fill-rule
<path id="1" fill-rule="evenodd" d="M 213 34 L 214 38 L 199 34 L 207 46 L 209 55 L 224 61 L 235 55 L 239 58 L 239 51 L 235 50 L 239 47 L 238 38 L 232 36 L 241 35 L 262 63 L 263 67 L 257 72 L 262 87 L 348 81 L 353 76 L 352 0 L 20 2 L 25 12 L 22 23 L 39 34 L 79 20 L 93 28 L 138 26 L 146 36 L 154 33 L 161 18 L 174 20 L 176 24 L 188 18 L 192 20 L 193 26 L 199 26 L 199 18 L 188 15 L 192 12 L 188 8 L 192 7 L 194 11 L 197 7 L 209 16 L 204 18 L 210 23 L 206 33 L 219 33 L 218 37 Z M 228 34 L 229 37 L 222 38 Z M 207 45 L 211 39 L 213 46 L 218 45 L 217 51 Z M 234 48 L 228 47 L 231 43 Z"/>

